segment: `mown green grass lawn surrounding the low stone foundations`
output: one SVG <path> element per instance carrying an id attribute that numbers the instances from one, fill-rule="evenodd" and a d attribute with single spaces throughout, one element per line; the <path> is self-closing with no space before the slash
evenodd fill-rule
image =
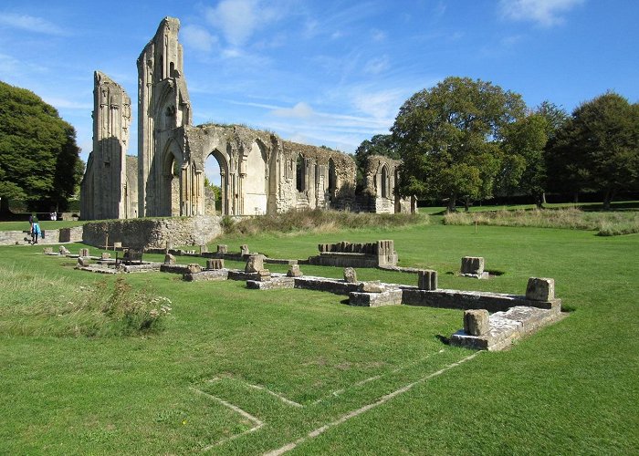
<path id="1" fill-rule="evenodd" d="M 461 326 L 460 311 L 357 308 L 344 296 L 148 273 L 127 280 L 173 301 L 161 333 L 21 336 L 33 323 L 31 300 L 74 299 L 80 285 L 113 278 L 37 247 L 0 247 L 0 453 L 262 454 L 286 445 L 292 454 L 635 453 L 639 234 L 473 232 L 435 223 L 215 244 L 305 258 L 319 243 L 393 239 L 401 265 L 436 269 L 443 288 L 521 294 L 529 276 L 554 277 L 571 316 L 508 351 L 468 358 L 474 352 L 439 337 Z M 465 255 L 505 274 L 449 274 Z M 416 281 L 366 269 L 358 277 Z"/>

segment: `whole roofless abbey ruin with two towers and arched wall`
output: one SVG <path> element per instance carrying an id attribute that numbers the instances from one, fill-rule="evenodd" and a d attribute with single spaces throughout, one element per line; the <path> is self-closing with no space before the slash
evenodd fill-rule
<path id="1" fill-rule="evenodd" d="M 410 210 L 395 192 L 399 161 L 372 157 L 365 190 L 355 194 L 355 162 L 348 154 L 243 126 L 194 126 L 179 28 L 178 19 L 165 17 L 138 58 L 137 158 L 127 156 L 131 98 L 96 71 L 93 151 L 80 191 L 83 219 L 215 213 L 204 187 L 204 163 L 212 155 L 220 170 L 222 215 Z"/>

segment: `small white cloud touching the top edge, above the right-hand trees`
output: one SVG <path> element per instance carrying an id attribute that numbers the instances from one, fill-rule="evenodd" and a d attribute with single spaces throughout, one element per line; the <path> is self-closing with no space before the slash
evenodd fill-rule
<path id="1" fill-rule="evenodd" d="M 500 0 L 503 16 L 519 21 L 537 22 L 541 26 L 555 26 L 563 22 L 564 14 L 585 0 Z"/>

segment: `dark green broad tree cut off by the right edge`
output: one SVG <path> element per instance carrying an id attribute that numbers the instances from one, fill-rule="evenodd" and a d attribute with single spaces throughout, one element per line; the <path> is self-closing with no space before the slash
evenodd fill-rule
<path id="1" fill-rule="evenodd" d="M 608 92 L 582 103 L 549 144 L 551 181 L 559 190 L 615 194 L 639 188 L 639 105 Z"/>

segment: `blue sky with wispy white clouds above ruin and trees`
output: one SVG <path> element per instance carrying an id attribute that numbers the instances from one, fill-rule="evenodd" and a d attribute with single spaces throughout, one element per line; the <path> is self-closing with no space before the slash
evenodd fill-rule
<path id="1" fill-rule="evenodd" d="M 135 155 L 136 59 L 164 16 L 182 22 L 195 124 L 346 152 L 447 76 L 492 81 L 529 107 L 570 112 L 608 89 L 639 100 L 635 0 L 3 0 L 0 80 L 58 108 L 86 161 L 100 69 L 134 100 Z"/>

